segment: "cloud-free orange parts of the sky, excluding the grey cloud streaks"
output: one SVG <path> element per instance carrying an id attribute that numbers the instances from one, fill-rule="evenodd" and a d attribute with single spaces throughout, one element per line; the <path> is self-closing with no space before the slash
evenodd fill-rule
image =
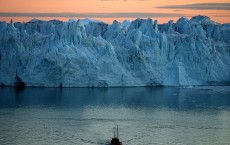
<path id="1" fill-rule="evenodd" d="M 130 13 L 137 13 L 136 17 L 139 17 L 139 13 L 146 13 L 147 16 L 143 18 L 151 17 L 157 19 L 160 23 L 167 22 L 168 20 L 177 20 L 181 16 L 190 18 L 193 15 L 207 15 L 212 20 L 219 23 L 230 23 L 230 8 L 219 10 L 201 10 L 201 9 L 175 9 L 175 8 L 156 8 L 160 6 L 169 5 L 187 5 L 197 3 L 230 3 L 230 0 L 0 0 L 0 20 L 9 21 L 29 21 L 32 17 L 24 16 L 24 13 L 36 13 L 38 19 L 60 19 L 67 21 L 68 16 L 47 16 L 41 17 L 40 13 L 127 13 L 127 16 L 122 14 L 114 17 L 94 17 L 94 19 L 100 19 L 111 23 L 114 19 L 122 21 L 124 19 L 135 19 L 135 16 L 129 16 Z M 21 13 L 20 16 L 12 16 L 1 13 Z M 149 15 L 148 15 L 149 13 Z M 152 15 L 151 13 L 157 13 Z M 159 14 L 159 15 L 158 15 Z M 161 15 L 164 14 L 164 15 Z M 167 15 L 170 14 L 170 15 Z M 175 16 L 174 16 L 175 15 Z M 181 16 L 180 16 L 181 15 Z M 78 15 L 71 18 L 83 18 Z"/>

